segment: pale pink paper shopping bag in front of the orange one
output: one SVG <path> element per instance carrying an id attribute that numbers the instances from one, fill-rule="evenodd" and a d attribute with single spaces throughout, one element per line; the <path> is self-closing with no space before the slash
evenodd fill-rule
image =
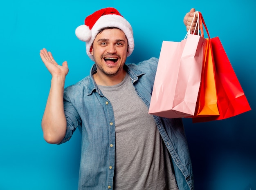
<path id="1" fill-rule="evenodd" d="M 189 32 L 181 42 L 162 43 L 149 114 L 166 118 L 195 114 L 206 39 Z"/>

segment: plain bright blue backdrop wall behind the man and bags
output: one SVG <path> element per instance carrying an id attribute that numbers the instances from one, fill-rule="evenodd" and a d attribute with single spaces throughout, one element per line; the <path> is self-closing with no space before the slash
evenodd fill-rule
<path id="1" fill-rule="evenodd" d="M 80 133 L 63 145 L 43 140 L 40 121 L 51 76 L 39 51 L 52 51 L 60 64 L 67 60 L 66 86 L 87 76 L 92 61 L 74 30 L 104 7 L 117 8 L 132 25 L 135 50 L 128 62 L 134 63 L 159 57 L 162 40 L 182 40 L 185 13 L 192 7 L 202 12 L 252 111 L 207 123 L 184 119 L 195 190 L 256 189 L 254 0 L 9 0 L 0 3 L 0 190 L 76 190 Z"/>

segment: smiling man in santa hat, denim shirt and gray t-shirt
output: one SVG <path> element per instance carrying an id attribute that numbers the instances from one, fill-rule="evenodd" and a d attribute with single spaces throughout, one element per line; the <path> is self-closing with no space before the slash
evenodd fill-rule
<path id="1" fill-rule="evenodd" d="M 187 28 L 194 11 L 184 17 Z M 193 190 L 182 120 L 148 114 L 157 58 L 125 64 L 133 32 L 114 8 L 88 16 L 76 36 L 95 65 L 75 85 L 64 89 L 67 62 L 58 65 L 46 49 L 40 56 L 52 74 L 45 140 L 64 143 L 81 127 L 79 190 Z"/>

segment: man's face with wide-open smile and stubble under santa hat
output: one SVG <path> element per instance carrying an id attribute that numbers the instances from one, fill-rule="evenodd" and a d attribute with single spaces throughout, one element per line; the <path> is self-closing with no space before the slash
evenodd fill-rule
<path id="1" fill-rule="evenodd" d="M 127 49 L 127 38 L 120 29 L 105 29 L 99 33 L 92 44 L 91 52 L 97 73 L 107 76 L 121 74 L 127 58 Z"/>

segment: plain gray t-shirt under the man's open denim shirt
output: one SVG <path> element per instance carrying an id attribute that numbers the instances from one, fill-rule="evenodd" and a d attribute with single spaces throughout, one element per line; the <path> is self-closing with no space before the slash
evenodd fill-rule
<path id="1" fill-rule="evenodd" d="M 178 190 L 168 150 L 130 76 L 99 89 L 110 101 L 116 123 L 113 189 Z"/>

